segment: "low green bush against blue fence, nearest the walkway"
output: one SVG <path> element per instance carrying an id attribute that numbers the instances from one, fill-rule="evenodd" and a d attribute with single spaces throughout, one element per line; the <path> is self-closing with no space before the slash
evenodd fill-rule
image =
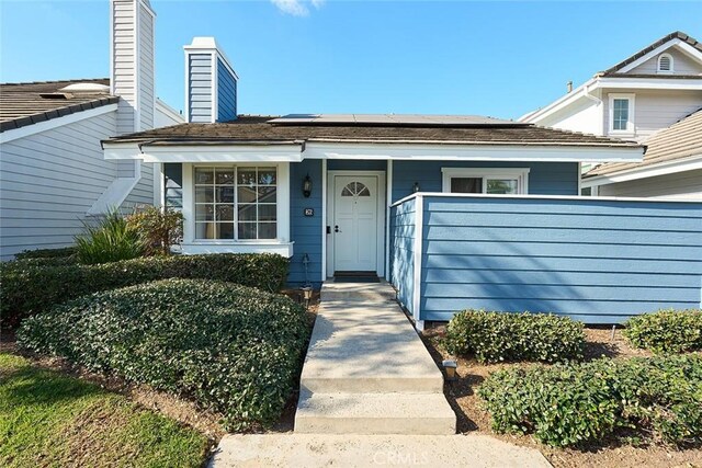
<path id="1" fill-rule="evenodd" d="M 474 354 L 482 363 L 542 361 L 553 363 L 582 357 L 582 323 L 546 313 L 464 310 L 449 322 L 446 350 Z"/>

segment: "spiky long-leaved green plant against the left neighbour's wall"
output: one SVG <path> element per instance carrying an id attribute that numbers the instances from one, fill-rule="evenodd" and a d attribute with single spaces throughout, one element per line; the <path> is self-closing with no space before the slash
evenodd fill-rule
<path id="1" fill-rule="evenodd" d="M 107 213 L 93 226 L 83 222 L 86 233 L 76 236 L 76 249 L 80 263 L 107 263 L 141 256 L 146 241 L 116 210 Z"/>

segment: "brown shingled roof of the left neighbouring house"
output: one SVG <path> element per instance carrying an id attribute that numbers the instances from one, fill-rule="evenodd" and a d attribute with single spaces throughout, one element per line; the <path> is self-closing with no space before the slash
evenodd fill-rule
<path id="1" fill-rule="evenodd" d="M 78 79 L 0 84 L 0 132 L 24 127 L 38 122 L 73 114 L 89 109 L 114 104 L 117 96 L 101 89 L 93 91 L 61 91 L 77 84 L 110 85 L 110 79 Z"/>

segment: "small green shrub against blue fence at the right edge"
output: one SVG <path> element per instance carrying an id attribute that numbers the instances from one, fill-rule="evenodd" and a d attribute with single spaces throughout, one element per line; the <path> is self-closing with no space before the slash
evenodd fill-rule
<path id="1" fill-rule="evenodd" d="M 702 350 L 702 310 L 659 310 L 626 321 L 623 333 L 632 346 L 655 353 Z"/>

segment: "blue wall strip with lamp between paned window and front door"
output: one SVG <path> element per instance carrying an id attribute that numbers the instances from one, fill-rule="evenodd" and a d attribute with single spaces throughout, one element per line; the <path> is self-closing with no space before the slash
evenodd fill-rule
<path id="1" fill-rule="evenodd" d="M 314 184 L 309 198 L 305 198 L 302 192 L 303 181 L 307 174 Z M 291 239 L 295 242 L 287 276 L 291 286 L 301 286 L 305 283 L 303 264 L 305 253 L 309 255 L 310 261 L 308 281 L 317 288 L 321 285 L 321 160 L 309 159 L 290 164 Z M 313 208 L 315 216 L 305 216 L 305 208 Z"/>

